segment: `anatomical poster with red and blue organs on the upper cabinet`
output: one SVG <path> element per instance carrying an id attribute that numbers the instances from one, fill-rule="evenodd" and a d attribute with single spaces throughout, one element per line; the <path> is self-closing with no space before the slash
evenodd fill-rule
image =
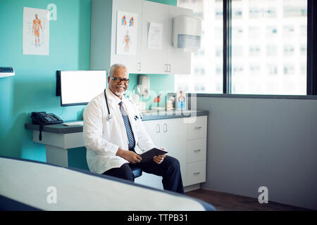
<path id="1" fill-rule="evenodd" d="M 117 12 L 117 43 L 118 55 L 135 56 L 137 54 L 137 14 Z"/>

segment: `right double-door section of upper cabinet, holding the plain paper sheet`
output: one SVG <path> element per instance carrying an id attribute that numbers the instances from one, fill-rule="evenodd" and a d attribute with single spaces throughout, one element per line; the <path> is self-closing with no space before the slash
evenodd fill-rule
<path id="1" fill-rule="evenodd" d="M 176 49 L 173 46 L 173 18 L 176 15 L 192 15 L 192 10 L 144 1 L 142 12 L 140 72 L 190 74 L 191 53 L 185 53 L 182 49 Z M 161 49 L 149 49 L 147 46 L 150 23 L 161 23 L 163 25 Z"/>

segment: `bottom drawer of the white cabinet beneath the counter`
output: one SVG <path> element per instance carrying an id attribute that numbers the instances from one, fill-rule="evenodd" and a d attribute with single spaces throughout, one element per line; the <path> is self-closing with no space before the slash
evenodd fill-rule
<path id="1" fill-rule="evenodd" d="M 191 162 L 186 168 L 186 185 L 199 184 L 206 181 L 206 160 Z"/>

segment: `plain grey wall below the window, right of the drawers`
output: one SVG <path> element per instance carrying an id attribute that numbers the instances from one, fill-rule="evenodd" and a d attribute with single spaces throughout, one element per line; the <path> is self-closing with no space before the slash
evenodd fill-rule
<path id="1" fill-rule="evenodd" d="M 203 188 L 317 210 L 317 100 L 197 99 L 209 110 Z"/>

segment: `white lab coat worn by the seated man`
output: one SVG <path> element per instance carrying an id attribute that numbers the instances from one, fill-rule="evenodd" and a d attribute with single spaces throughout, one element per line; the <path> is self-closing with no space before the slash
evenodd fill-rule
<path id="1" fill-rule="evenodd" d="M 97 174 L 102 174 L 108 169 L 121 167 L 128 162 L 116 155 L 118 148 L 128 150 L 128 136 L 118 105 L 121 100 L 113 96 L 109 89 L 106 89 L 106 96 L 112 115 L 111 122 L 106 120 L 108 110 L 104 92 L 94 97 L 84 111 L 83 135 L 87 148 L 87 164 L 89 170 Z M 135 152 L 142 154 L 154 148 L 154 143 L 142 124 L 135 104 L 125 96 L 123 96 L 122 101 L 135 136 Z M 135 120 L 135 116 L 139 119 Z"/>

